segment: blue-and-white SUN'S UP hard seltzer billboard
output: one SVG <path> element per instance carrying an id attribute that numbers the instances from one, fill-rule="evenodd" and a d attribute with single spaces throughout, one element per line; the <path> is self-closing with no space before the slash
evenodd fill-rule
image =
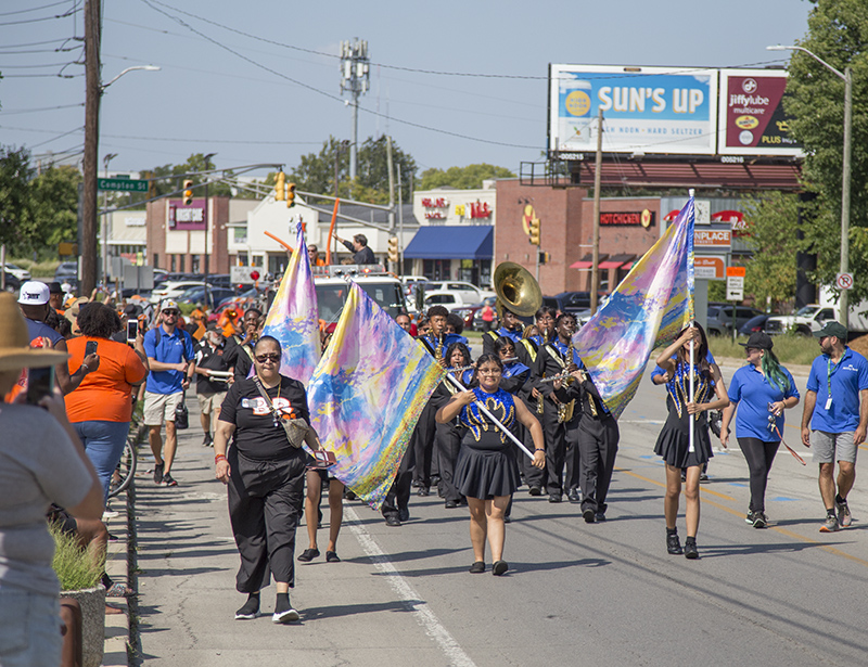
<path id="1" fill-rule="evenodd" d="M 549 150 L 714 155 L 717 69 L 550 65 Z"/>

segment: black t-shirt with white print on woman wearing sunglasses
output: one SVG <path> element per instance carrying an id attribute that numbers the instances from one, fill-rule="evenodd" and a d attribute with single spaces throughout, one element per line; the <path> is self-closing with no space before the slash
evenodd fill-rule
<path id="1" fill-rule="evenodd" d="M 307 393 L 301 382 L 281 376 L 280 385 L 266 388 L 266 393 L 281 414 L 310 423 Z M 238 381 L 229 387 L 220 408 L 220 420 L 235 425 L 232 445 L 247 459 L 273 461 L 305 456 L 303 449 L 290 445 L 283 426 L 275 424 L 275 415 L 253 379 Z"/>

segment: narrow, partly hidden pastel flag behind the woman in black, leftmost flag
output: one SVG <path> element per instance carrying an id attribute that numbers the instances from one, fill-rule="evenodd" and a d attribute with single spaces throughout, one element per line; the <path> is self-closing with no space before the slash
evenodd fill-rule
<path id="1" fill-rule="evenodd" d="M 295 230 L 295 252 L 290 257 L 280 288 L 265 319 L 263 335 L 280 341 L 280 374 L 307 384 L 320 357 L 317 291 L 307 258 L 302 226 Z"/>

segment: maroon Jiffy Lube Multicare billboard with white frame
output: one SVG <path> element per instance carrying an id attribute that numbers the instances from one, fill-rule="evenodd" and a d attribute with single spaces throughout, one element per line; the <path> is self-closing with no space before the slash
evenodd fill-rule
<path id="1" fill-rule="evenodd" d="M 787 73 L 774 69 L 722 69 L 720 155 L 802 155 L 783 114 Z"/>

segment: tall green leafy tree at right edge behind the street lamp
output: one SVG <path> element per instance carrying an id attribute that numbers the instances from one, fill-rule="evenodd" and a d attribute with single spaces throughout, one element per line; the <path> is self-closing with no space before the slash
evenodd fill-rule
<path id="1" fill-rule="evenodd" d="M 853 68 L 851 180 L 851 303 L 868 296 L 868 12 L 864 0 L 815 0 L 800 46 L 843 72 Z M 805 147 L 803 177 L 817 193 L 816 216 L 804 227 L 805 249 L 816 253 L 812 277 L 834 283 L 841 257 L 841 174 L 844 82 L 806 53 L 790 61 L 784 110 L 793 137 Z"/>

